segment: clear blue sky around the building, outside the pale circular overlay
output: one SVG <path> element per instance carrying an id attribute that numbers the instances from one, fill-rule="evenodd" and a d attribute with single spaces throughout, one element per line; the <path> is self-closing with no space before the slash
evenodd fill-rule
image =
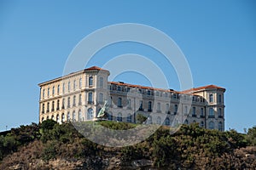
<path id="1" fill-rule="evenodd" d="M 256 125 L 255 8 L 253 0 L 2 0 L 0 131 L 6 125 L 38 122 L 38 83 L 61 76 L 68 55 L 82 38 L 103 26 L 132 22 L 153 26 L 177 42 L 189 61 L 195 87 L 227 88 L 225 128 L 243 132 Z M 99 54 L 149 54 L 141 49 L 122 44 Z M 147 83 L 138 80 L 134 82 Z M 177 82 L 172 88 L 178 88 Z"/>

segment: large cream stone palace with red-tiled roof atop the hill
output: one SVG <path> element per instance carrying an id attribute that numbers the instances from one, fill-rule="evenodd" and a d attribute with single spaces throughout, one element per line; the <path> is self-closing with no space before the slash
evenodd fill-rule
<path id="1" fill-rule="evenodd" d="M 107 102 L 108 120 L 136 123 L 137 114 L 148 117 L 144 123 L 176 126 L 198 122 L 201 127 L 224 131 L 225 88 L 208 85 L 178 92 L 108 82 L 110 72 L 93 66 L 64 77 L 39 83 L 39 122 L 95 121 Z"/>

